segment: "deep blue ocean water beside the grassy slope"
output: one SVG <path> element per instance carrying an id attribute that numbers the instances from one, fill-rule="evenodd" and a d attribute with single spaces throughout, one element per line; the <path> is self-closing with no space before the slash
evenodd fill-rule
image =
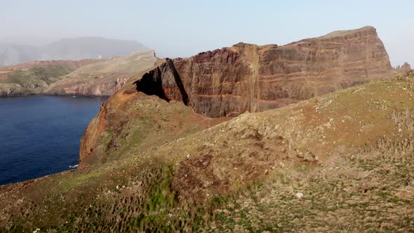
<path id="1" fill-rule="evenodd" d="M 105 100 L 41 95 L 0 98 L 0 185 L 76 165 L 81 136 Z"/>

